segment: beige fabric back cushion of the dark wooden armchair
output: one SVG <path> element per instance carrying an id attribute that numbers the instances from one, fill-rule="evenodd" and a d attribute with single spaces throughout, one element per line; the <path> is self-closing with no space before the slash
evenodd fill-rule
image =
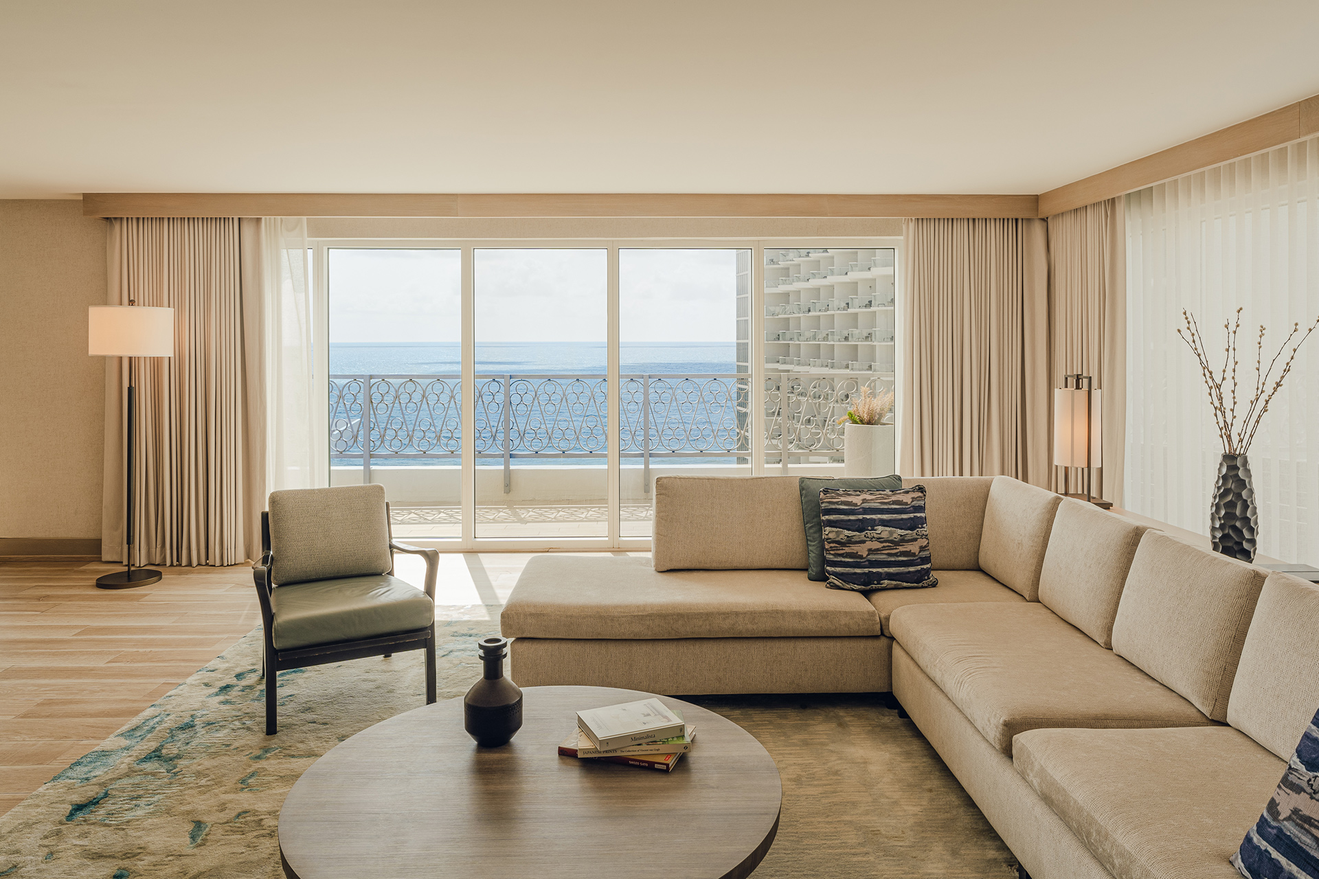
<path id="1" fill-rule="evenodd" d="M 270 581 L 277 586 L 310 580 L 389 573 L 385 486 L 270 492 Z"/>

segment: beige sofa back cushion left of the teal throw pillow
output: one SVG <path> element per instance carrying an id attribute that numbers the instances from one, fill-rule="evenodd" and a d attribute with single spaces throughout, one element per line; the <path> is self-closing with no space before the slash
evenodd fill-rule
<path id="1" fill-rule="evenodd" d="M 806 569 L 795 476 L 661 476 L 656 571 Z"/>

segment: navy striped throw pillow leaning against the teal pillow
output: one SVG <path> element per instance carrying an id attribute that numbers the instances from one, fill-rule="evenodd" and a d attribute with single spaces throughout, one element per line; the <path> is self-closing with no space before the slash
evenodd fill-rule
<path id="1" fill-rule="evenodd" d="M 830 589 L 938 585 L 930 569 L 925 486 L 820 489 L 824 573 Z"/>

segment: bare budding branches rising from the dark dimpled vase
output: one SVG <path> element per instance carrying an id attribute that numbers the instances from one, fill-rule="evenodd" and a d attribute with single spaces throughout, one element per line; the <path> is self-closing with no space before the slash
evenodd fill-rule
<path id="1" fill-rule="evenodd" d="M 1260 422 L 1264 420 L 1265 412 L 1269 411 L 1273 395 L 1282 389 L 1282 382 L 1291 373 L 1291 364 L 1297 358 L 1297 351 L 1310 337 L 1310 333 L 1319 327 L 1319 318 L 1310 324 L 1310 328 L 1304 333 L 1301 332 L 1299 323 L 1291 324 L 1291 332 L 1278 345 L 1278 352 L 1269 361 L 1268 369 L 1264 368 L 1265 329 L 1262 324 L 1260 326 L 1260 333 L 1254 341 L 1254 387 L 1250 398 L 1242 401 L 1237 399 L 1237 333 L 1241 329 L 1241 308 L 1237 308 L 1236 323 L 1231 320 L 1223 323 L 1223 328 L 1228 333 L 1228 340 L 1227 347 L 1223 349 L 1223 368 L 1216 372 L 1210 361 L 1210 349 L 1204 343 L 1204 336 L 1200 333 L 1200 326 L 1196 323 L 1195 315 L 1183 308 L 1182 319 L 1186 320 L 1186 328 L 1178 328 L 1177 335 L 1195 353 L 1195 360 L 1200 364 L 1200 376 L 1204 378 L 1204 387 L 1210 394 L 1210 409 L 1213 410 L 1213 423 L 1219 428 L 1219 439 L 1223 440 L 1223 452 L 1225 455 L 1245 455 L 1250 448 L 1250 443 L 1254 441 L 1256 431 L 1260 430 Z M 1301 336 L 1299 339 L 1297 339 L 1298 335 Z M 1294 344 L 1293 340 L 1295 340 Z M 1291 353 L 1283 362 L 1282 372 L 1278 373 L 1277 378 L 1273 378 L 1273 370 L 1278 365 L 1278 358 L 1286 352 L 1287 345 L 1291 345 Z M 1244 406 L 1240 423 L 1237 422 L 1239 403 Z"/>

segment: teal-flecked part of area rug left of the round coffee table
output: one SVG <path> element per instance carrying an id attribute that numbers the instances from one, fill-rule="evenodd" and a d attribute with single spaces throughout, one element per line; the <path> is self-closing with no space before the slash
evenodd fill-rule
<path id="1" fill-rule="evenodd" d="M 499 634 L 499 610 L 435 622 L 439 698 L 480 677 L 475 642 Z M 269 737 L 261 630 L 248 633 L 0 817 L 0 876 L 278 879 L 289 788 L 343 739 L 425 705 L 423 663 L 412 651 L 280 672 Z"/>

